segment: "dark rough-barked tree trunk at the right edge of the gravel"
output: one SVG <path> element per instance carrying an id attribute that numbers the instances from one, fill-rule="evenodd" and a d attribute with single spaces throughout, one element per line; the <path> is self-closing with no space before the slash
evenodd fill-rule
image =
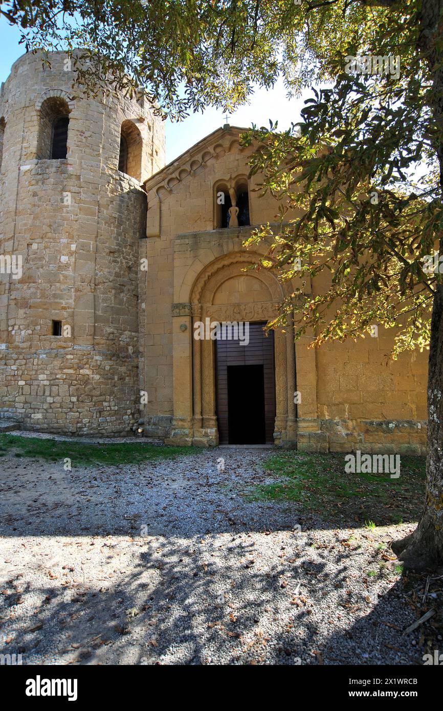
<path id="1" fill-rule="evenodd" d="M 443 68 L 442 49 L 436 47 L 443 26 L 443 1 L 423 0 L 418 50 L 425 52 L 433 73 L 434 120 L 439 127 L 435 150 L 440 166 L 443 198 Z M 439 255 L 443 255 L 443 235 Z M 427 461 L 425 508 L 417 529 L 393 543 L 405 567 L 434 570 L 443 567 L 443 284 L 437 284 L 432 307 L 427 383 Z"/>

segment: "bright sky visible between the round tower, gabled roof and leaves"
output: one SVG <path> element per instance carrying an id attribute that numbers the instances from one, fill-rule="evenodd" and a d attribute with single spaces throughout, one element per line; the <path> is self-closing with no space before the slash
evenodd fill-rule
<path id="1" fill-rule="evenodd" d="M 4 18 L 0 18 L 0 82 L 9 75 L 11 65 L 23 54 L 23 46 L 18 45 L 19 33 L 10 27 Z M 287 100 L 286 90 L 282 82 L 274 89 L 257 90 L 250 99 L 249 105 L 237 109 L 230 115 L 228 123 L 235 126 L 249 127 L 252 123 L 259 126 L 269 125 L 269 119 L 279 122 L 279 129 L 286 129 L 292 121 L 300 118 L 303 100 Z M 180 123 L 166 121 L 166 161 L 169 163 L 176 156 L 193 146 L 197 141 L 213 132 L 225 123 L 225 115 L 216 109 L 206 109 L 203 114 L 191 114 Z"/>

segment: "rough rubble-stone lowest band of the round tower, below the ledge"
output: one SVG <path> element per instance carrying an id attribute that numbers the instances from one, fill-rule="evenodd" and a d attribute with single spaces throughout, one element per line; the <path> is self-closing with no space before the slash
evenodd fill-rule
<path id="1" fill-rule="evenodd" d="M 0 351 L 0 412 L 54 434 L 132 432 L 139 420 L 138 360 L 92 347 Z"/>

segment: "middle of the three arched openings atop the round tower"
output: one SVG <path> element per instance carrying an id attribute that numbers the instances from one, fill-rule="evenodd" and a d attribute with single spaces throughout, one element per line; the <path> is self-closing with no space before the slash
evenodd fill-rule
<path id="1" fill-rule="evenodd" d="M 69 112 L 67 102 L 61 97 L 43 101 L 38 126 L 38 160 L 59 160 L 68 155 Z"/>

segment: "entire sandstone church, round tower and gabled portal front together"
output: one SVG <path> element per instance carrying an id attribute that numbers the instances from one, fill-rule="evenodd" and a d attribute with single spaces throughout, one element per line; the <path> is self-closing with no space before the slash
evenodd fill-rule
<path id="1" fill-rule="evenodd" d="M 277 203 L 248 178 L 242 129 L 165 166 L 164 124 L 143 97 L 73 99 L 71 84 L 55 53 L 44 69 L 24 55 L 1 87 L 0 417 L 241 443 L 253 395 L 259 441 L 423 454 L 426 353 L 387 360 L 383 328 L 319 350 L 290 329 L 263 336 L 291 285 L 245 272 L 258 253 L 242 242 Z M 250 343 L 194 338 L 207 322 L 249 324 Z"/>

